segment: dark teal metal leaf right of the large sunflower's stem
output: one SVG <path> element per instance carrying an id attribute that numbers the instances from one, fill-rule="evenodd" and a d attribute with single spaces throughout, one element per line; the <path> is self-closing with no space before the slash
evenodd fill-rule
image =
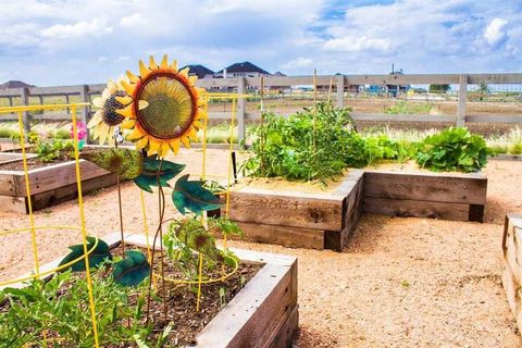
<path id="1" fill-rule="evenodd" d="M 202 182 L 189 182 L 188 174 L 177 179 L 172 192 L 172 200 L 182 214 L 186 214 L 189 210 L 199 215 L 203 211 L 214 210 L 223 204 L 220 198 L 203 188 Z"/>

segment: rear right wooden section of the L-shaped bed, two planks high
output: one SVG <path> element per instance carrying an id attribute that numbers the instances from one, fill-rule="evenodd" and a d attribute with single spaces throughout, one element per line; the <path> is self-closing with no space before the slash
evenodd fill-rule
<path id="1" fill-rule="evenodd" d="M 364 172 L 364 212 L 457 221 L 484 220 L 483 173 Z"/>

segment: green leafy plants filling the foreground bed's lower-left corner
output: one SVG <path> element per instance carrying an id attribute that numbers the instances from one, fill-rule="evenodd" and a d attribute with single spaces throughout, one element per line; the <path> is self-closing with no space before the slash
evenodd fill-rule
<path id="1" fill-rule="evenodd" d="M 145 297 L 122 287 L 102 271 L 92 273 L 100 346 L 132 346 L 147 340 L 151 327 L 142 324 Z M 130 300 L 130 298 L 134 300 Z M 84 278 L 65 272 L 49 282 L 34 279 L 21 289 L 7 288 L 0 300 L 0 346 L 94 347 L 88 288 Z"/>

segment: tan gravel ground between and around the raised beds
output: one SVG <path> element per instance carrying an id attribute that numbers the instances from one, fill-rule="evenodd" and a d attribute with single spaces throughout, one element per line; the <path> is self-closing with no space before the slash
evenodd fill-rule
<path id="1" fill-rule="evenodd" d="M 176 159 L 199 173 L 198 150 Z M 209 150 L 209 167 L 226 174 L 226 154 Z M 521 347 L 500 283 L 504 215 L 522 211 L 522 162 L 490 161 L 486 223 L 363 215 L 341 253 L 233 243 L 299 258 L 300 333 L 297 347 Z M 125 229 L 142 233 L 139 191 L 125 184 Z M 157 196 L 146 194 L 150 228 Z M 86 197 L 87 227 L 98 236 L 119 229 L 114 188 Z M 174 208 L 167 202 L 167 217 Z M 77 225 L 74 202 L 40 211 L 37 225 Z M 0 212 L 0 231 L 28 226 Z M 0 237 L 0 279 L 32 269 L 28 234 Z M 70 231 L 39 233 L 40 260 L 79 241 Z"/>

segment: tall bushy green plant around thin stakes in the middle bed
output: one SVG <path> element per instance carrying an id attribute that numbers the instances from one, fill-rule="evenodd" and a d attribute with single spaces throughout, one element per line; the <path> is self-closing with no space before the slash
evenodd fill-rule
<path id="1" fill-rule="evenodd" d="M 340 174 L 346 163 L 339 154 L 353 129 L 349 112 L 319 103 L 315 126 L 312 109 L 288 119 L 266 113 L 264 125 L 254 130 L 254 156 L 241 164 L 243 170 L 253 176 L 290 181 L 323 181 Z"/>

